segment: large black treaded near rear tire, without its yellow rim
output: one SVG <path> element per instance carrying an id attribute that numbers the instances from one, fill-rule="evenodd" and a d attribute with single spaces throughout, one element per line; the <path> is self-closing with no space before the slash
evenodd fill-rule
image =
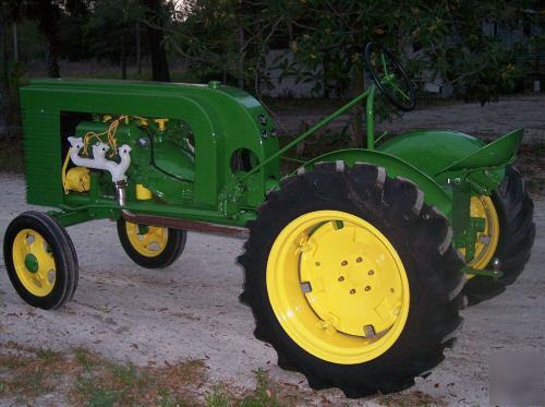
<path id="1" fill-rule="evenodd" d="M 378 228 L 407 271 L 411 295 L 403 332 L 367 362 L 337 364 L 305 351 L 284 332 L 268 298 L 267 261 L 277 236 L 291 220 L 322 210 L 347 212 Z M 397 392 L 439 363 L 453 344 L 462 323 L 463 262 L 447 218 L 423 202 L 411 181 L 387 178 L 384 168 L 367 164 L 317 164 L 313 171 L 284 178 L 247 226 L 250 238 L 238 259 L 245 277 L 240 299 L 254 314 L 254 335 L 274 346 L 280 368 L 302 372 L 313 388 L 339 387 L 348 397 Z"/>

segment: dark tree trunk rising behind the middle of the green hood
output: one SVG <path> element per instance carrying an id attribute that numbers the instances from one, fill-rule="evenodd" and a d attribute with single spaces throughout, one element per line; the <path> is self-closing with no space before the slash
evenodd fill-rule
<path id="1" fill-rule="evenodd" d="M 146 8 L 146 19 L 153 25 L 147 26 L 147 38 L 149 41 L 149 55 L 152 57 L 152 76 L 154 81 L 170 82 L 167 52 L 162 45 L 162 31 L 155 26 L 162 27 L 161 1 L 141 0 Z"/>

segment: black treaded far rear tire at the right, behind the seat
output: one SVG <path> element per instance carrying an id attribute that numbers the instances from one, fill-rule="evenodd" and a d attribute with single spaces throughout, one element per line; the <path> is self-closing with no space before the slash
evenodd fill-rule
<path id="1" fill-rule="evenodd" d="M 499 241 L 493 260 L 499 260 L 504 275 L 497 280 L 485 276 L 471 278 L 464 288 L 470 306 L 494 298 L 513 284 L 524 270 L 534 244 L 534 203 L 517 168 L 506 168 L 505 179 L 492 194 L 492 201 L 499 218 Z M 487 268 L 493 268 L 492 262 Z"/>

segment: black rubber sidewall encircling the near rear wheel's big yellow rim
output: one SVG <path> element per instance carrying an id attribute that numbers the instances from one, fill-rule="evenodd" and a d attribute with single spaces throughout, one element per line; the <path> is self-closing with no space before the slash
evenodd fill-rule
<path id="1" fill-rule="evenodd" d="M 261 219 L 258 224 L 269 227 L 251 229 L 254 236 L 251 236 L 250 240 L 259 250 L 252 251 L 255 256 L 250 258 L 247 261 L 249 264 L 253 264 L 252 270 L 255 273 L 253 273 L 253 278 L 250 280 L 251 284 L 253 282 L 253 286 L 245 287 L 247 296 L 253 298 L 245 301 L 258 304 L 261 300 L 257 297 L 266 299 L 261 301 L 263 312 L 256 313 L 256 307 L 251 306 L 254 316 L 257 320 L 257 325 L 262 326 L 262 330 L 270 330 L 272 333 L 271 335 L 266 333 L 263 336 L 277 338 L 272 345 L 277 348 L 278 354 L 282 354 L 284 358 L 294 362 L 310 381 L 313 376 L 327 376 L 331 378 L 331 382 L 337 386 L 342 386 L 343 388 L 354 386 L 362 390 L 361 378 L 365 376 L 366 383 L 370 385 L 367 390 L 363 388 L 365 393 L 377 387 L 383 390 L 388 388 L 386 382 L 380 382 L 377 379 L 377 383 L 374 384 L 373 381 L 374 378 L 384 378 L 391 371 L 391 379 L 396 382 L 397 388 L 400 388 L 400 383 L 407 380 L 407 378 L 411 378 L 407 380 L 407 385 L 410 385 L 415 374 L 432 368 L 443 359 L 443 336 L 439 337 L 438 335 L 444 335 L 444 333 L 441 333 L 441 330 L 435 332 L 434 324 L 441 323 L 441 319 L 437 315 L 447 315 L 452 319 L 459 318 L 458 308 L 452 313 L 451 307 L 448 303 L 449 299 L 445 299 L 445 297 L 448 297 L 448 292 L 452 289 L 451 285 L 456 284 L 455 280 L 459 282 L 462 278 L 461 274 L 453 277 L 450 282 L 441 282 L 439 277 L 434 277 L 434 275 L 438 275 L 436 270 L 434 270 L 437 265 L 436 261 L 441 256 L 437 252 L 437 246 L 431 246 L 427 242 L 427 246 L 424 244 L 424 249 L 419 247 L 419 236 L 422 236 L 422 228 L 429 227 L 423 225 L 420 217 L 393 224 L 391 219 L 385 216 L 380 206 L 376 203 L 367 201 L 362 204 L 361 200 L 354 200 L 354 196 L 350 196 L 344 188 L 346 182 L 339 175 L 334 176 L 332 181 L 329 180 L 327 183 L 327 189 L 332 189 L 331 193 L 328 193 L 328 196 L 319 196 L 319 192 L 313 196 L 312 194 L 306 194 L 306 191 L 301 191 L 299 194 L 290 194 L 292 200 L 289 204 L 282 201 L 274 201 L 269 211 L 262 211 L 259 213 Z M 311 187 L 311 191 L 315 185 L 316 182 Z M 334 196 L 339 199 L 329 199 Z M 350 196 L 351 200 L 342 200 L 340 199 L 341 196 Z M 378 197 L 378 201 L 380 200 L 382 196 Z M 355 202 L 360 203 L 356 204 Z M 272 244 L 281 230 L 290 222 L 308 212 L 323 210 L 346 212 L 376 227 L 393 246 L 407 273 L 410 306 L 403 331 L 396 343 L 383 355 L 363 363 L 337 364 L 328 362 L 307 352 L 293 342 L 282 328 L 270 304 L 266 288 L 267 272 L 258 272 L 259 270 L 267 271 L 268 254 Z M 412 238 L 413 236 L 414 239 Z M 453 249 L 451 252 L 456 253 Z M 455 263 L 460 263 L 460 267 L 462 266 L 460 260 L 455 261 Z M 249 280 L 246 279 L 247 283 Z M 437 292 L 440 295 L 437 296 Z M 426 331 L 427 334 L 422 335 Z M 421 357 L 423 352 L 427 355 L 425 358 Z M 399 366 L 400 361 L 404 361 L 404 366 Z M 395 372 L 391 370 L 392 367 L 396 367 Z M 338 378 L 342 378 L 344 383 L 339 383 L 338 380 L 340 379 Z"/>

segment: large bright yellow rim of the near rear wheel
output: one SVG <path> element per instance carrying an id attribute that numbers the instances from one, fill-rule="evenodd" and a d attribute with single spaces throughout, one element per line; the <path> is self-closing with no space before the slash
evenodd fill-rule
<path id="1" fill-rule="evenodd" d="M 409 282 L 391 243 L 338 211 L 311 212 L 286 226 L 269 253 L 267 292 L 286 333 L 334 363 L 379 357 L 409 314 Z"/>

